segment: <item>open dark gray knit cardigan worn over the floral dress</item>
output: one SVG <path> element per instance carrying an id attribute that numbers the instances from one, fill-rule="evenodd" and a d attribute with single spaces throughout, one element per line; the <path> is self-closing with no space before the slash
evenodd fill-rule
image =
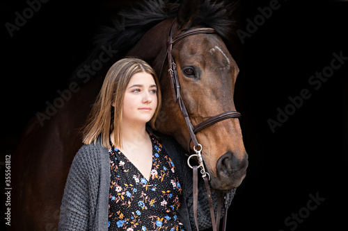
<path id="1" fill-rule="evenodd" d="M 187 157 L 172 137 L 165 136 L 160 140 L 180 174 L 183 199 L 177 216 L 187 231 L 196 230 L 193 219 L 192 171 L 187 166 Z M 109 187 L 108 149 L 99 142 L 96 145 L 82 146 L 74 157 L 65 185 L 58 230 L 107 230 Z M 234 195 L 235 190 L 228 193 L 228 205 Z M 218 198 L 214 191 L 212 198 L 216 214 Z M 203 180 L 198 183 L 198 223 L 200 230 L 212 226 Z"/>

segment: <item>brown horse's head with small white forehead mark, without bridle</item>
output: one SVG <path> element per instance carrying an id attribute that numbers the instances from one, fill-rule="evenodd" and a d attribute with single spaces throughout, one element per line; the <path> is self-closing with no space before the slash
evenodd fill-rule
<path id="1" fill-rule="evenodd" d="M 197 3 L 184 2 L 179 8 L 173 36 L 187 31 L 188 27 L 201 27 L 191 26 L 198 13 Z M 223 112 L 235 111 L 233 92 L 239 69 L 219 35 L 199 33 L 186 36 L 173 44 L 171 53 L 177 67 L 182 101 L 193 126 Z M 193 150 L 193 143 L 188 142 L 189 130 L 180 105 L 173 101 L 166 72 L 169 68 L 166 64 L 161 76 L 164 102 L 162 121 L 157 124 L 161 132 L 173 135 L 184 148 Z M 198 131 L 196 138 L 203 146 L 202 155 L 211 176 L 211 186 L 221 191 L 238 187 L 248 166 L 239 120 L 230 118 L 211 124 Z"/>

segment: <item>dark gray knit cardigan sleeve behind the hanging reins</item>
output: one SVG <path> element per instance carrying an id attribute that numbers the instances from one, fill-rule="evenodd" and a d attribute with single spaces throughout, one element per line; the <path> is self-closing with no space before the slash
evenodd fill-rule
<path id="1" fill-rule="evenodd" d="M 180 169 L 180 179 L 182 180 L 182 189 L 184 191 L 184 203 L 182 205 L 186 205 L 187 209 L 184 213 L 188 213 L 189 215 L 189 221 L 183 222 L 184 225 L 190 224 L 190 228 L 188 230 L 196 230 L 196 225 L 194 222 L 194 216 L 193 216 L 193 181 L 192 181 L 192 169 L 189 168 L 187 165 L 187 156 L 184 151 L 184 149 L 176 142 L 176 140 L 173 137 L 161 137 L 161 142 L 164 145 L 164 148 L 166 148 L 166 151 L 168 152 L 168 155 L 170 155 L 173 158 L 173 162 L 177 164 L 178 168 Z M 232 202 L 232 198 L 235 195 L 235 189 L 232 189 L 226 194 L 226 200 L 228 202 L 228 207 L 230 206 Z M 216 193 L 216 191 L 212 190 L 212 199 L 213 199 L 213 206 L 214 206 L 214 216 L 216 217 L 216 211 L 217 211 L 217 203 L 219 200 L 219 196 Z M 221 207 L 221 218 L 223 216 L 223 206 Z M 200 178 L 198 176 L 198 205 L 197 205 L 197 214 L 198 214 L 198 224 L 200 230 L 206 230 L 208 228 L 212 227 L 212 221 L 210 216 L 210 210 L 209 205 L 207 203 L 207 191 L 205 189 L 205 183 L 203 178 Z"/>

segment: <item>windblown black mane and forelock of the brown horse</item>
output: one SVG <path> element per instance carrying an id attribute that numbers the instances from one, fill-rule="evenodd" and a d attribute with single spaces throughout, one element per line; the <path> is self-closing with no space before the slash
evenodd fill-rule
<path id="1" fill-rule="evenodd" d="M 125 55 L 150 28 L 165 19 L 174 19 L 179 6 L 180 1 L 171 3 L 168 0 L 148 0 L 120 11 L 114 17 L 112 26 L 101 28 L 101 33 L 95 36 L 96 48 L 84 64 L 88 65 L 96 60 L 102 46 L 111 46 L 113 51 L 117 51 L 118 58 L 122 58 L 122 55 Z M 235 35 L 236 19 L 231 17 L 235 8 L 236 3 L 226 4 L 223 1 L 206 0 L 201 3 L 192 26 L 214 28 L 224 40 L 230 40 Z M 77 80 L 77 71 L 72 76 L 72 80 Z M 77 82 L 79 83 L 81 80 L 77 80 Z"/>

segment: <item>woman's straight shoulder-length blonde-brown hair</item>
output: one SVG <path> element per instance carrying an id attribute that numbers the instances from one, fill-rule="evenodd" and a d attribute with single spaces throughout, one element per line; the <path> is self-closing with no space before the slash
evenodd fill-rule
<path id="1" fill-rule="evenodd" d="M 115 62 L 106 73 L 102 89 L 100 89 L 86 126 L 83 129 L 84 144 L 91 144 L 92 142 L 95 144 L 97 139 L 100 139 L 102 146 L 111 148 L 109 136 L 112 130 L 114 130 L 115 145 L 118 148 L 122 148 L 121 124 L 125 90 L 132 76 L 140 72 L 151 74 L 157 85 L 157 108 L 150 120 L 150 125 L 155 129 L 155 121 L 161 108 L 161 90 L 155 71 L 143 60 L 123 58 Z M 113 103 L 115 103 L 114 107 L 111 106 Z"/>

